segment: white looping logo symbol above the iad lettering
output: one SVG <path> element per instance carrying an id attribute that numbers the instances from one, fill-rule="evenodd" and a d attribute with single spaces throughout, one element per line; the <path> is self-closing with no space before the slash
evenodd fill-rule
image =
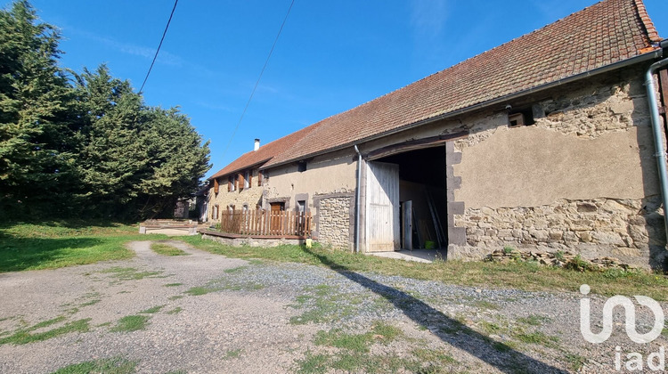
<path id="1" fill-rule="evenodd" d="M 588 295 L 591 291 L 586 284 L 580 286 L 580 293 Z M 580 299 L 580 332 L 582 337 L 590 343 L 603 343 L 612 334 L 613 329 L 613 309 L 615 306 L 622 306 L 624 308 L 624 315 L 626 317 L 626 335 L 635 343 L 649 343 L 661 335 L 664 329 L 664 310 L 661 305 L 651 297 L 634 296 L 639 305 L 647 306 L 649 310 L 654 313 L 654 327 L 646 334 L 639 334 L 636 331 L 636 307 L 629 297 L 615 296 L 607 299 L 606 304 L 603 305 L 603 329 L 594 334 L 591 332 L 590 324 L 590 300 L 589 297 L 582 297 Z"/>

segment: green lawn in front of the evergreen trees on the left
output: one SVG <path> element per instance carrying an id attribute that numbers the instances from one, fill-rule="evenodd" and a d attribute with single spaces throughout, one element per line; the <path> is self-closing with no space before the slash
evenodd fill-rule
<path id="1" fill-rule="evenodd" d="M 134 256 L 124 244 L 131 240 L 165 239 L 163 235 L 140 235 L 125 224 L 0 224 L 0 272 L 54 269 L 93 264 Z"/>

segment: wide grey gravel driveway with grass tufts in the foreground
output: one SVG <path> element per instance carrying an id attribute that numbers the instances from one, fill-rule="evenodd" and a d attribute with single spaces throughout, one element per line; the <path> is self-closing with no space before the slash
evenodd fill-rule
<path id="1" fill-rule="evenodd" d="M 159 256 L 141 241 L 129 244 L 132 260 L 0 274 L 0 372 L 114 359 L 147 373 L 603 373 L 615 371 L 615 346 L 622 365 L 627 352 L 666 346 L 664 336 L 632 343 L 621 308 L 613 337 L 585 342 L 580 294 L 248 262 L 170 244 L 189 256 Z M 606 299 L 591 300 L 597 331 Z M 653 316 L 638 312 L 647 331 Z"/>

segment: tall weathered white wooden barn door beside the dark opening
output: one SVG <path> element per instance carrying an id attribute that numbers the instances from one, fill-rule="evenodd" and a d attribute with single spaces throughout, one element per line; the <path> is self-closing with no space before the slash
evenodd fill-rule
<path id="1" fill-rule="evenodd" d="M 381 162 L 367 165 L 367 251 L 399 250 L 399 166 Z"/>

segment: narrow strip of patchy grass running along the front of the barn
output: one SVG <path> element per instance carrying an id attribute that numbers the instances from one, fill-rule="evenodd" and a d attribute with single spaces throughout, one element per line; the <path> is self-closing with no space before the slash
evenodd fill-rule
<path id="1" fill-rule="evenodd" d="M 582 284 L 588 284 L 591 292 L 601 295 L 643 295 L 668 300 L 668 279 L 663 274 L 649 272 L 576 272 L 532 263 L 437 261 L 423 264 L 317 247 L 235 248 L 203 240 L 199 235 L 180 237 L 179 240 L 224 256 L 324 265 L 338 271 L 379 272 L 449 284 L 529 291 L 578 292 Z"/>

